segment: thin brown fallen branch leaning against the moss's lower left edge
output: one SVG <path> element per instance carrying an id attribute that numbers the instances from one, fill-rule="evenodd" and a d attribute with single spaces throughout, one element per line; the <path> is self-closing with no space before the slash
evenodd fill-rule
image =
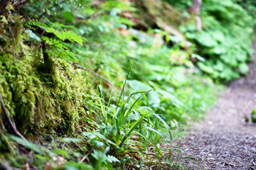
<path id="1" fill-rule="evenodd" d="M 0 100 L 1 100 L 1 108 L 3 109 L 4 115 L 5 115 L 4 120 L 6 120 L 6 121 L 3 121 L 3 122 L 4 122 L 5 126 L 6 126 L 6 130 L 11 132 L 13 135 L 16 135 L 17 137 L 21 137 L 23 140 L 26 140 L 26 138 L 23 137 L 23 135 L 21 135 L 21 133 L 18 132 L 18 130 L 16 129 L 15 123 L 13 121 L 11 121 L 11 118 L 10 118 L 10 116 L 9 116 L 7 110 L 6 110 L 6 106 L 4 104 L 4 99 L 1 96 L 1 93 L 0 93 Z"/>

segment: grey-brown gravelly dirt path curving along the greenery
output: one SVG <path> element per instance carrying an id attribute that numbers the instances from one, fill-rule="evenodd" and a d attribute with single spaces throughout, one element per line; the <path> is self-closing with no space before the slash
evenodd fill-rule
<path id="1" fill-rule="evenodd" d="M 256 108 L 256 40 L 253 47 L 247 76 L 228 84 L 206 119 L 181 140 L 178 162 L 185 169 L 256 169 L 256 125 L 244 118 Z"/>

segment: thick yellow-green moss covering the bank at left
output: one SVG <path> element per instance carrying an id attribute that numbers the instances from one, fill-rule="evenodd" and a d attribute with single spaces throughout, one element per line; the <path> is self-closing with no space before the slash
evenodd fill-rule
<path id="1" fill-rule="evenodd" d="M 76 72 L 67 61 L 53 56 L 49 56 L 53 63 L 52 72 L 42 72 L 41 49 L 23 44 L 21 21 L 6 24 L 6 27 L 10 26 L 12 30 L 19 28 L 21 31 L 15 32 L 15 40 L 6 42 L 15 45 L 14 49 L 7 50 L 6 45 L 0 51 L 0 92 L 9 115 L 23 134 L 32 130 L 57 130 L 72 135 L 75 125 L 85 115 L 81 98 L 92 93 L 90 77 Z"/>

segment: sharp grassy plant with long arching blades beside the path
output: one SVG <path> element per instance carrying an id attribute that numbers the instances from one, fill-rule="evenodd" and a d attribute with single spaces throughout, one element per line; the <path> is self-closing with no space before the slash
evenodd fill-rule
<path id="1" fill-rule="evenodd" d="M 168 138 L 161 132 L 161 129 L 158 129 L 161 126 L 157 124 L 161 123 L 169 131 L 170 136 L 171 132 L 169 125 L 160 115 L 154 113 L 149 107 L 138 106 L 139 99 L 148 94 L 149 91 L 135 90 L 129 96 L 124 97 L 126 82 L 127 79 L 124 81 L 120 96 L 115 97 L 117 105 L 113 103 L 114 98 L 111 96 L 109 102 L 105 103 L 102 86 L 98 86 L 97 98 L 99 104 L 93 106 L 93 109 L 101 115 L 95 118 L 95 123 L 99 128 L 97 128 L 97 132 L 83 132 L 83 135 L 88 137 L 96 148 L 110 145 L 110 154 L 114 154 L 115 157 L 127 157 L 127 159 L 131 159 L 130 161 L 135 162 L 138 160 L 134 157 L 140 157 L 140 166 L 142 166 L 144 155 L 149 152 L 149 144 L 154 146 L 159 156 L 164 156 L 157 143 L 160 142 L 160 139 L 168 141 Z M 138 97 L 134 98 L 134 96 Z M 89 108 L 88 112 L 90 118 L 92 118 L 92 109 Z M 97 152 L 97 154 L 100 153 Z M 122 164 L 127 164 L 127 162 L 122 162 Z"/>

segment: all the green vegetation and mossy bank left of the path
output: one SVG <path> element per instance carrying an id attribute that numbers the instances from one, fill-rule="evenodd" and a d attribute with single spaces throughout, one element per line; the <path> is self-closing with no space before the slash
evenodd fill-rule
<path id="1" fill-rule="evenodd" d="M 198 30 L 190 1 L 0 1 L 1 168 L 178 169 L 173 138 L 247 74 L 235 3 Z"/>

